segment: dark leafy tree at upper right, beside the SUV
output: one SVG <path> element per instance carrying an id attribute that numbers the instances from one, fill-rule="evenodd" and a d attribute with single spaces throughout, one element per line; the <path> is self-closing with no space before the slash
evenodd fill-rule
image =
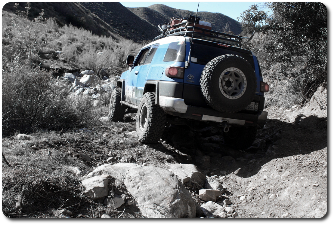
<path id="1" fill-rule="evenodd" d="M 307 92 L 311 87 L 316 90 L 320 84 L 327 84 L 326 6 L 320 2 L 271 2 L 267 7 L 273 15 L 259 11 L 255 5 L 240 17 L 248 26 L 266 19 L 261 32 L 270 38 L 262 43 L 263 60 L 282 63 L 279 74 L 295 77 L 307 87 Z M 292 72 L 287 68 L 300 70 Z"/>

